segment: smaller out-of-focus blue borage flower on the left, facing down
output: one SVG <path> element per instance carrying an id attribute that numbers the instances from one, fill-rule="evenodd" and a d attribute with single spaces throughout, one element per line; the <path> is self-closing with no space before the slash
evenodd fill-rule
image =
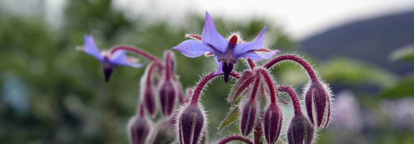
<path id="1" fill-rule="evenodd" d="M 96 47 L 92 36 L 84 34 L 84 46 L 80 46 L 79 49 L 85 51 L 85 53 L 94 56 L 98 61 L 101 61 L 103 66 L 103 73 L 105 74 L 105 81 L 108 82 L 109 76 L 111 76 L 112 69 L 117 65 L 131 66 L 134 68 L 140 68 L 144 66 L 142 63 L 137 63 L 137 59 L 126 56 L 126 51 L 102 51 Z"/>

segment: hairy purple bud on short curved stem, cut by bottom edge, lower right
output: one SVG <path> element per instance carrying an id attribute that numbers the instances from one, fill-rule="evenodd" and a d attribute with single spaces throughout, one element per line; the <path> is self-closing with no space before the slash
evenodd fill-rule
<path id="1" fill-rule="evenodd" d="M 289 144 L 312 144 L 315 129 L 308 118 L 295 115 L 287 130 Z"/>

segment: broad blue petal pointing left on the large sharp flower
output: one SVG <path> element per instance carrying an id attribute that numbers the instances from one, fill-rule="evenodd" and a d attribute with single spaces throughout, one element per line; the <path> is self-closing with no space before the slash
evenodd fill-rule
<path id="1" fill-rule="evenodd" d="M 208 46 L 207 44 L 201 44 L 200 42 L 191 39 L 183 41 L 181 44 L 174 46 L 172 49 L 178 50 L 185 56 L 192 58 L 201 56 L 205 52 L 211 52 L 217 55 L 217 52 L 214 51 L 212 47 Z"/>

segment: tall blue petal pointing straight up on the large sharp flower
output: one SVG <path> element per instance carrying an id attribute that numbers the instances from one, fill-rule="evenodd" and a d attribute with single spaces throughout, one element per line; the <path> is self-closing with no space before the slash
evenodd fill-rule
<path id="1" fill-rule="evenodd" d="M 225 54 L 228 51 L 230 42 L 217 32 L 216 26 L 214 25 L 213 19 L 206 12 L 206 20 L 203 27 L 201 36 L 203 44 L 209 44 L 213 46 L 214 50 Z"/>

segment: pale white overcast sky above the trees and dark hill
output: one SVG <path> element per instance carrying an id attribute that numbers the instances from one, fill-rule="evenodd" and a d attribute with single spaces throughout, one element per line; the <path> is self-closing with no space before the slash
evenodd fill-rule
<path id="1" fill-rule="evenodd" d="M 47 17 L 55 21 L 66 1 L 46 0 L 51 11 Z M 113 7 L 130 18 L 146 15 L 172 22 L 183 20 L 188 13 L 204 17 L 206 10 L 213 18 L 241 22 L 265 18 L 301 40 L 352 21 L 414 10 L 414 0 L 114 0 Z"/>

